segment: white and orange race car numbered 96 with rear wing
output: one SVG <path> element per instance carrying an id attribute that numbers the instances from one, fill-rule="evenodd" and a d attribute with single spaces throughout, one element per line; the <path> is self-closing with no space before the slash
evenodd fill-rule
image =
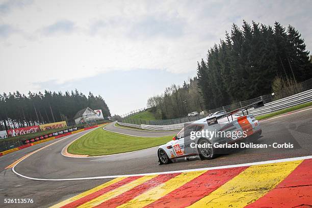
<path id="1" fill-rule="evenodd" d="M 263 101 L 260 101 L 229 113 L 210 115 L 186 124 L 171 141 L 158 148 L 159 163 L 211 160 L 219 153 L 230 151 L 229 147 L 238 142 L 258 139 L 262 129 L 255 117 L 248 115 L 248 109 L 263 106 Z M 242 115 L 238 114 L 240 111 Z"/>

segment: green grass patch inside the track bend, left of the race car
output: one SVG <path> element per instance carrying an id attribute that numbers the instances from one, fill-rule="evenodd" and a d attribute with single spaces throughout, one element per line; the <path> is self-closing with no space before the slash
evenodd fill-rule
<path id="1" fill-rule="evenodd" d="M 72 154 L 90 156 L 117 154 L 155 147 L 167 143 L 172 136 L 166 137 L 133 137 L 98 128 L 77 139 L 67 148 Z"/>

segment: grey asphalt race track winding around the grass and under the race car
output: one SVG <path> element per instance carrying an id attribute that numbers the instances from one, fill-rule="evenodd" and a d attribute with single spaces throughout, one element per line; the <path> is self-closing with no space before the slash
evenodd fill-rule
<path id="1" fill-rule="evenodd" d="M 302 110 L 304 109 L 300 111 Z M 88 179 L 88 177 L 112 176 L 113 178 L 115 175 L 217 167 L 312 155 L 312 109 L 262 121 L 261 125 L 262 138 L 256 143 L 291 142 L 295 143 L 295 148 L 237 150 L 231 154 L 220 155 L 211 161 L 191 161 L 169 165 L 158 165 L 157 147 L 105 157 L 68 158 L 61 154 L 64 146 L 88 131 L 25 148 L 0 157 L 0 206 L 4 205 L 4 198 L 33 198 L 34 204 L 11 204 L 11 206 L 47 207 L 111 180 Z M 137 136 L 156 137 L 174 134 L 174 132 L 136 131 L 115 127 L 113 124 L 105 128 L 109 131 Z M 5 169 L 23 155 L 51 143 L 55 144 L 22 160 L 14 170 L 18 174 L 31 178 L 61 181 L 23 178 L 14 174 L 11 168 Z M 84 178 L 85 180 L 68 180 L 71 178 Z M 10 204 L 5 205 L 10 206 Z"/>

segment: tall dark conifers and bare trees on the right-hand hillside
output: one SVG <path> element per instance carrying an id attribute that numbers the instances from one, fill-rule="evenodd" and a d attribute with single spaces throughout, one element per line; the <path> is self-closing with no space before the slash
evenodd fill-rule
<path id="1" fill-rule="evenodd" d="M 150 97 L 147 106 L 167 119 L 269 94 L 274 82 L 291 85 L 311 78 L 308 55 L 304 39 L 291 25 L 233 24 L 230 34 L 225 32 L 225 39 L 197 63 L 194 79 Z"/>

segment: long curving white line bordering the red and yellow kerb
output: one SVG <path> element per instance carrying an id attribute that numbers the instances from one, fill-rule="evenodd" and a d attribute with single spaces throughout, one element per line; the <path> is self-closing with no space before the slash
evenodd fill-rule
<path id="1" fill-rule="evenodd" d="M 188 169 L 188 170 L 177 170 L 177 171 L 167 171 L 167 172 L 155 172 L 155 173 L 142 173 L 142 174 L 129 174 L 129 175 L 109 175 L 109 176 L 97 176 L 97 177 L 81 177 L 81 178 L 58 178 L 58 179 L 49 179 L 49 178 L 34 178 L 28 177 L 22 174 L 17 173 L 12 168 L 12 171 L 19 175 L 20 177 L 32 179 L 32 180 L 50 180 L 50 181 L 64 181 L 64 180 L 89 180 L 89 179 L 110 179 L 110 178 L 117 178 L 117 177 L 131 177 L 131 176 L 144 176 L 144 175 L 159 175 L 159 174 L 170 174 L 170 173 L 181 173 L 181 172 L 192 172 L 192 171 L 205 171 L 205 170 L 216 170 L 216 169 L 225 169 L 225 168 L 237 168 L 237 167 L 244 167 L 244 166 L 251 166 L 251 165 L 264 165 L 264 164 L 272 164 L 272 163 L 282 163 L 282 162 L 291 162 L 291 161 L 298 161 L 298 160 L 307 160 L 312 159 L 312 155 L 305 156 L 305 157 L 297 157 L 297 158 L 287 158 L 287 159 L 280 159 L 280 160 L 271 160 L 271 161 L 262 161 L 262 162 L 254 162 L 254 163 L 244 163 L 244 164 L 237 164 L 237 165 L 226 165 L 226 166 L 219 166 L 219 167 L 211 167 L 211 168 L 197 168 L 197 169 Z"/>

